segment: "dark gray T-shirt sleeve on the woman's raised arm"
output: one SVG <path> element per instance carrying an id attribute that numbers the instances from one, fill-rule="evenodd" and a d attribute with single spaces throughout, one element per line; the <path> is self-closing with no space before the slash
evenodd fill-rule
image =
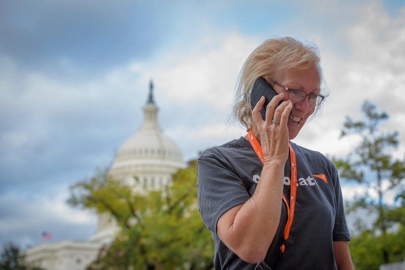
<path id="1" fill-rule="evenodd" d="M 251 198 L 231 164 L 219 155 L 207 154 L 198 158 L 197 196 L 201 218 L 215 234 L 221 215 Z"/>

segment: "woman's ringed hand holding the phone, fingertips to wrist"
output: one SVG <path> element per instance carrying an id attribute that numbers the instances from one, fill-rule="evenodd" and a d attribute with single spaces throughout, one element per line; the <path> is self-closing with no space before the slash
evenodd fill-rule
<path id="1" fill-rule="evenodd" d="M 290 100 L 285 101 L 274 110 L 283 98 L 284 93 L 281 93 L 269 102 L 266 107 L 265 120 L 263 120 L 260 113 L 266 100 L 264 97 L 260 99 L 252 111 L 253 121 L 260 136 L 264 165 L 277 161 L 284 164 L 288 159 L 289 136 L 287 122 L 293 104 Z M 278 123 L 273 123 L 273 119 Z"/>

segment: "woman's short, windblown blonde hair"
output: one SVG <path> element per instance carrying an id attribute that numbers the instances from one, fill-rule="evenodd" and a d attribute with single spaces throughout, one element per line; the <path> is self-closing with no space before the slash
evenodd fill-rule
<path id="1" fill-rule="evenodd" d="M 250 105 L 250 93 L 257 78 L 264 77 L 268 82 L 278 81 L 282 72 L 289 68 L 305 70 L 313 66 L 319 71 L 319 84 L 321 84 L 323 76 L 320 56 L 315 44 L 304 45 L 292 37 L 265 40 L 252 52 L 240 70 L 232 110 L 234 121 L 238 121 L 248 130 L 252 127 L 253 108 Z M 316 106 L 311 118 L 320 111 L 320 106 Z"/>

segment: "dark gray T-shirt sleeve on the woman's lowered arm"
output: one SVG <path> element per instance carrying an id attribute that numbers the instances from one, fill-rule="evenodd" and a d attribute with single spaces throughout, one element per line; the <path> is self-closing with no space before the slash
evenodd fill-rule
<path id="1" fill-rule="evenodd" d="M 350 241 L 350 233 L 347 229 L 344 203 L 342 197 L 342 190 L 340 188 L 338 170 L 335 165 L 333 165 L 334 174 L 335 174 L 335 196 L 336 196 L 336 216 L 335 216 L 335 225 L 333 228 L 333 241 Z"/>

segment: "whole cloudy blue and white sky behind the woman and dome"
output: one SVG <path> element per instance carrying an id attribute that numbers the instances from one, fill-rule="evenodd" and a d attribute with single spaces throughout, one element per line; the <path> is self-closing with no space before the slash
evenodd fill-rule
<path id="1" fill-rule="evenodd" d="M 1 1 L 0 244 L 85 240 L 93 214 L 68 187 L 112 162 L 142 124 L 148 81 L 185 160 L 245 135 L 226 124 L 239 70 L 274 35 L 317 44 L 330 97 L 296 143 L 344 157 L 345 116 L 368 99 L 405 155 L 402 1 Z M 343 183 L 346 199 L 363 191 Z M 393 203 L 388 194 L 387 203 Z"/>

